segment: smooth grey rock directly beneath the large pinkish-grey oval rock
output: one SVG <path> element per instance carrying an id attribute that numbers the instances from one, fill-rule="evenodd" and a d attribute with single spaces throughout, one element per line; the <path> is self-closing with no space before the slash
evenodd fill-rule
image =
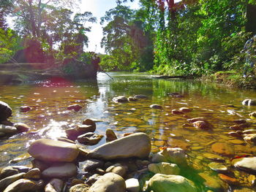
<path id="1" fill-rule="evenodd" d="M 78 168 L 72 163 L 59 163 L 50 166 L 42 172 L 42 177 L 63 178 L 73 177 L 78 174 Z"/>

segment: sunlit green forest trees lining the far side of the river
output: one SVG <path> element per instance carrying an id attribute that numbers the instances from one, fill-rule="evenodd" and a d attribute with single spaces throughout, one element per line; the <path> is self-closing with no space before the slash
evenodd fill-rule
<path id="1" fill-rule="evenodd" d="M 116 1 L 101 18 L 103 70 L 197 76 L 243 71 L 244 43 L 256 34 L 256 0 L 140 0 L 136 10 L 124 2 Z M 90 64 L 93 54 L 83 47 L 96 18 L 72 12 L 75 6 L 71 0 L 1 1 L 0 63 L 22 53 L 26 62 L 55 65 L 75 58 Z M 14 28 L 7 17 L 15 18 Z"/>

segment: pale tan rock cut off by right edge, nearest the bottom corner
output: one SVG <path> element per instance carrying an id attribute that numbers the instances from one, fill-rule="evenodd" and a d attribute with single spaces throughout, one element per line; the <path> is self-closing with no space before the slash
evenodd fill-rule
<path id="1" fill-rule="evenodd" d="M 256 157 L 234 159 L 232 164 L 245 172 L 256 174 Z"/>

